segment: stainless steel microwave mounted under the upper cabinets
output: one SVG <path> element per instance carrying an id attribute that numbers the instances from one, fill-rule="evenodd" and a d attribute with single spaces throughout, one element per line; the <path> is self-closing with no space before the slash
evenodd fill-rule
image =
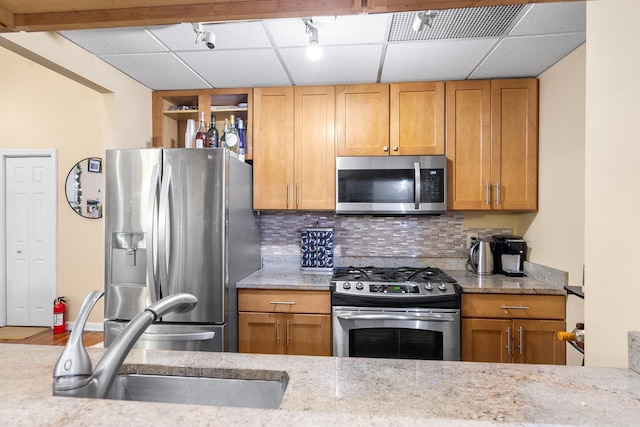
<path id="1" fill-rule="evenodd" d="M 441 214 L 447 210 L 447 158 L 338 157 L 336 213 Z"/>

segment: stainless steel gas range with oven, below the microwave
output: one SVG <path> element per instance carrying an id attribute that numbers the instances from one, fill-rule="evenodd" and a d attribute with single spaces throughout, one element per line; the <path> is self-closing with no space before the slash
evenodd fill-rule
<path id="1" fill-rule="evenodd" d="M 438 268 L 334 269 L 333 355 L 460 360 L 460 294 Z"/>

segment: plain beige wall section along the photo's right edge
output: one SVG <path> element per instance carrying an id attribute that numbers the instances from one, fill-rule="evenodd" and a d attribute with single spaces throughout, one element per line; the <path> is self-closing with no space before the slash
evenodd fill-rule
<path id="1" fill-rule="evenodd" d="M 586 364 L 627 364 L 640 329 L 640 21 L 637 0 L 587 2 Z"/>

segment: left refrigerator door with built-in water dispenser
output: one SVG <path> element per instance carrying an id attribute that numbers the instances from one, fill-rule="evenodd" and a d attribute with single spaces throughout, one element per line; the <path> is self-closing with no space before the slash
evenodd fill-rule
<path id="1" fill-rule="evenodd" d="M 157 288 L 153 223 L 162 150 L 108 150 L 105 161 L 105 317 L 131 319 Z M 150 286 L 151 285 L 151 286 Z"/>

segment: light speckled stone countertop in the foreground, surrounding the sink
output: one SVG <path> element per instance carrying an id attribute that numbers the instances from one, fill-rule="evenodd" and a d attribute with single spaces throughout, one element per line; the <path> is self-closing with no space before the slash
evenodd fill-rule
<path id="1" fill-rule="evenodd" d="M 61 347 L 0 344 L 0 414 L 38 426 L 637 425 L 622 368 L 134 350 L 127 364 L 286 371 L 280 409 L 53 397 Z M 104 349 L 90 348 L 94 365 Z"/>

